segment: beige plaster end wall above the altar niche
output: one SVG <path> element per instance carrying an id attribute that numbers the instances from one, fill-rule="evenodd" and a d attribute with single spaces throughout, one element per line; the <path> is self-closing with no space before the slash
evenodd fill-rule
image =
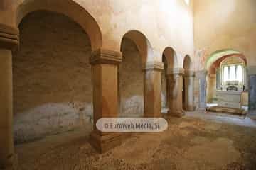
<path id="1" fill-rule="evenodd" d="M 233 49 L 256 65 L 256 1 L 194 0 L 193 27 L 196 69 L 204 69 L 216 50 Z"/>

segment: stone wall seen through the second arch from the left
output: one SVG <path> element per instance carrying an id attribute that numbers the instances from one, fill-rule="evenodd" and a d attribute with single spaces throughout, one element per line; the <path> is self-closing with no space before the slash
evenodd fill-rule
<path id="1" fill-rule="evenodd" d="M 142 58 L 137 46 L 122 40 L 122 64 L 119 65 L 120 116 L 141 117 L 144 115 L 144 72 Z"/>

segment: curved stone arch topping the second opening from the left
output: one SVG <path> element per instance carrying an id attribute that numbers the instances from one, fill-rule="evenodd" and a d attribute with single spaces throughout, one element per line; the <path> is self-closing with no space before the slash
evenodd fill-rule
<path id="1" fill-rule="evenodd" d="M 148 38 L 146 38 L 142 32 L 139 30 L 129 30 L 125 33 L 121 42 L 121 50 L 124 38 L 129 38 L 137 46 L 140 56 L 142 57 L 142 67 L 144 67 L 147 62 L 154 61 L 154 50 Z"/>

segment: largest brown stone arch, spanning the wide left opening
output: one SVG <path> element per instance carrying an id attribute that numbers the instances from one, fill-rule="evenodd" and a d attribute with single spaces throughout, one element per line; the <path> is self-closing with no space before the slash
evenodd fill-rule
<path id="1" fill-rule="evenodd" d="M 16 8 L 16 26 L 18 27 L 22 18 L 33 11 L 52 11 L 68 16 L 78 23 L 90 38 L 92 50 L 102 47 L 102 33 L 100 26 L 85 8 L 72 0 L 24 0 Z"/>

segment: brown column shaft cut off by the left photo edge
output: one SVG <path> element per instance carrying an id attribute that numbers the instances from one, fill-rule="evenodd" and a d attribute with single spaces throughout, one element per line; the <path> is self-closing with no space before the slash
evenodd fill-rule
<path id="1" fill-rule="evenodd" d="M 14 154 L 11 50 L 0 49 L 0 164 L 11 165 Z"/>

